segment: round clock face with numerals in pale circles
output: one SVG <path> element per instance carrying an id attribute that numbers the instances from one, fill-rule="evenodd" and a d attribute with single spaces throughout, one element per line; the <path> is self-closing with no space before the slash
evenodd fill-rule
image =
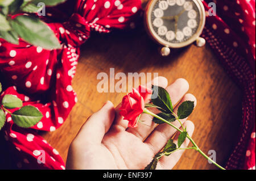
<path id="1" fill-rule="evenodd" d="M 153 0 L 147 16 L 150 31 L 165 44 L 188 43 L 202 29 L 202 10 L 197 0 Z"/>

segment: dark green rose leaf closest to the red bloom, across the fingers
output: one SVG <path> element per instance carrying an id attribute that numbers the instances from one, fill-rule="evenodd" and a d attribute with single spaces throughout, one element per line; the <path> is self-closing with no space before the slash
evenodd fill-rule
<path id="1" fill-rule="evenodd" d="M 158 106 L 164 110 L 166 113 L 172 113 L 174 108 L 172 107 L 172 102 L 169 93 L 163 89 L 163 87 L 152 85 L 152 96 L 151 101 L 155 106 Z M 153 98 L 154 95 L 158 95 L 157 98 Z M 160 110 L 162 111 L 162 110 Z"/>

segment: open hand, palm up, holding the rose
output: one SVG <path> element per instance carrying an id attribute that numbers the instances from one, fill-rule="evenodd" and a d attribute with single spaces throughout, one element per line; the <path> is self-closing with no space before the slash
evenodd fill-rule
<path id="1" fill-rule="evenodd" d="M 166 88 L 167 79 L 155 78 L 148 83 Z M 196 102 L 195 96 L 186 94 L 188 83 L 185 79 L 177 79 L 166 88 L 172 103 L 179 104 L 185 100 Z M 118 106 L 119 107 L 119 106 Z M 128 121 L 118 113 L 111 102 L 106 104 L 89 117 L 80 129 L 75 140 L 69 147 L 67 169 L 144 169 L 151 162 L 167 141 L 174 137 L 177 142 L 176 130 L 167 124 L 155 124 L 150 115 L 143 114 L 136 128 L 127 128 Z M 152 109 L 152 112 L 158 113 Z M 192 136 L 194 125 L 191 121 L 181 120 L 189 136 Z M 180 127 L 179 122 L 174 125 Z M 181 147 L 187 147 L 189 140 L 185 140 Z M 176 151 L 169 157 L 162 157 L 156 169 L 172 169 L 179 161 L 184 150 Z"/>

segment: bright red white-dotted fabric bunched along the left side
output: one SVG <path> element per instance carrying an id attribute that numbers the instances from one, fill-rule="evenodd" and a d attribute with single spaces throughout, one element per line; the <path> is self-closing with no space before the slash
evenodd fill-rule
<path id="1" fill-rule="evenodd" d="M 65 10 L 72 6 L 73 12 L 67 15 Z M 34 47 L 22 39 L 19 45 L 14 45 L 0 39 L 0 69 L 7 87 L 10 86 L 0 100 L 6 94 L 13 94 L 23 100 L 23 106 L 35 106 L 43 113 L 38 124 L 23 129 L 16 127 L 6 112 L 3 130 L 20 158 L 18 168 L 65 169 L 58 151 L 36 131 L 55 131 L 76 104 L 71 82 L 76 73 L 79 46 L 89 38 L 90 32 L 130 28 L 138 19 L 140 9 L 140 0 L 68 1 L 49 8 L 47 17 L 42 18 L 60 40 L 61 49 Z"/>

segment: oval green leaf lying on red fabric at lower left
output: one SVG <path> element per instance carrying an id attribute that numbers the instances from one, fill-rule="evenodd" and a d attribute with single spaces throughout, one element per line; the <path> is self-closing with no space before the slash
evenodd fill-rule
<path id="1" fill-rule="evenodd" d="M 14 123 L 22 128 L 33 127 L 42 117 L 42 113 L 33 106 L 24 106 L 11 114 Z"/>

